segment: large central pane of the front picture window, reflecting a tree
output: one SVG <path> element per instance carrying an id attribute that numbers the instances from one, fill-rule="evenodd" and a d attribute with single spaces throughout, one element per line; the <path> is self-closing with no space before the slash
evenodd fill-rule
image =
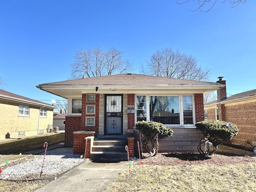
<path id="1" fill-rule="evenodd" d="M 162 124 L 180 124 L 179 96 L 150 96 L 150 120 Z"/>

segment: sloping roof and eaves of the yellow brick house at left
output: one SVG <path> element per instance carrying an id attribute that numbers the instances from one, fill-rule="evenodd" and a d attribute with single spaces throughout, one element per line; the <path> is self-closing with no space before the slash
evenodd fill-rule
<path id="1" fill-rule="evenodd" d="M 20 96 L 5 90 L 0 89 L 0 99 L 5 99 L 5 100 L 12 100 L 16 102 L 22 102 L 26 104 L 32 104 L 36 106 L 47 106 L 49 108 L 58 108 L 56 106 L 52 106 L 48 103 L 40 102 L 38 100 L 30 99 L 24 96 Z"/>

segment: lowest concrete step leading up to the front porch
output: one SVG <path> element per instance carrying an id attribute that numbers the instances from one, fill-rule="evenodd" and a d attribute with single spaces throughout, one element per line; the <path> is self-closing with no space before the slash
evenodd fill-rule
<path id="1" fill-rule="evenodd" d="M 93 161 L 120 162 L 127 161 L 127 152 L 91 152 Z"/>

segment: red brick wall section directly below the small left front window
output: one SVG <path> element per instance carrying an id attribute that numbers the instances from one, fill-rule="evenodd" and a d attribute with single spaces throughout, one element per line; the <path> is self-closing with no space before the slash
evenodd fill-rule
<path id="1" fill-rule="evenodd" d="M 66 116 L 65 122 L 65 146 L 73 146 L 73 132 L 81 130 L 80 116 Z"/>

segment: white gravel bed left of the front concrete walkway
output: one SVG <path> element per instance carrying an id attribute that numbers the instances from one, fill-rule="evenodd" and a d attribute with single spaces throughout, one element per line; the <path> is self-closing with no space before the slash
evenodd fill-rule
<path id="1" fill-rule="evenodd" d="M 73 154 L 73 148 L 55 148 L 38 155 L 30 155 L 2 167 L 0 179 L 15 179 L 28 174 L 59 175 L 84 162 L 80 154 Z M 42 169 L 42 164 L 44 166 Z"/>

